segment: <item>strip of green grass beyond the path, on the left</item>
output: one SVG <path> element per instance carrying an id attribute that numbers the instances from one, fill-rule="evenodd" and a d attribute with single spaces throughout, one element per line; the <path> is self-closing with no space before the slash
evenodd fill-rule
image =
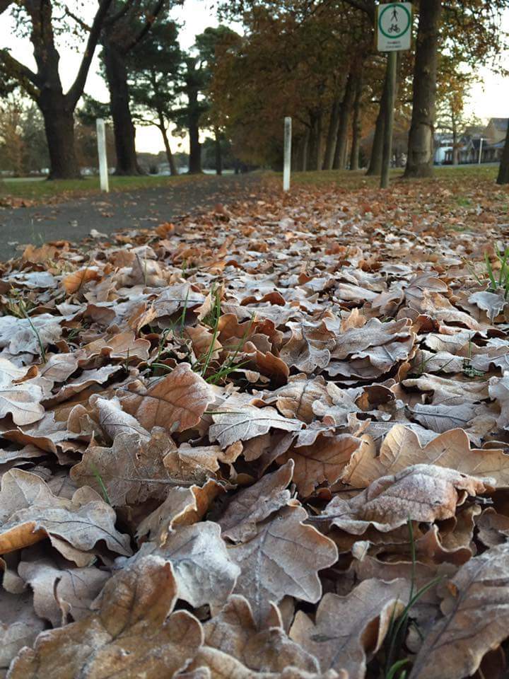
<path id="1" fill-rule="evenodd" d="M 139 177 L 110 177 L 110 191 L 131 191 L 137 189 L 164 187 L 189 180 L 206 181 L 214 175 L 177 175 L 176 177 L 158 177 L 141 175 Z M 98 193 L 99 178 L 86 177 L 83 179 L 63 180 L 0 180 L 0 202 L 2 198 L 13 197 L 28 199 L 35 202 L 45 202 L 48 199 L 67 200 L 71 198 Z"/>

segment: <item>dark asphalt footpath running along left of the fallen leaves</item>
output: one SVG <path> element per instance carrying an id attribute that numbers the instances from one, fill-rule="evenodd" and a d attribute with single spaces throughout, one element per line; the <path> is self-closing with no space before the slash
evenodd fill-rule
<path id="1" fill-rule="evenodd" d="M 254 197 L 259 175 L 206 176 L 167 187 L 93 194 L 36 207 L 0 207 L 0 261 L 20 254 L 19 246 L 48 240 L 81 240 L 95 228 L 113 233 L 151 228 L 218 203 Z"/>

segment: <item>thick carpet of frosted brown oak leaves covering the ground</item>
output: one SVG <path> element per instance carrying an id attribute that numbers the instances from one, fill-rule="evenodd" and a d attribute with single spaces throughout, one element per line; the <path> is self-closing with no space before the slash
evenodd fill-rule
<path id="1" fill-rule="evenodd" d="M 0 265 L 1 675 L 503 677 L 508 195 L 457 190 Z"/>

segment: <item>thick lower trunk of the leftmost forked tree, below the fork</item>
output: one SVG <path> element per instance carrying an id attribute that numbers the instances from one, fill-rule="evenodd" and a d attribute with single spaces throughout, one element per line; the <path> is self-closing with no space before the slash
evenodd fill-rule
<path id="1" fill-rule="evenodd" d="M 43 93 L 37 102 L 45 123 L 49 179 L 76 179 L 81 173 L 74 149 L 74 115 L 62 96 Z"/>

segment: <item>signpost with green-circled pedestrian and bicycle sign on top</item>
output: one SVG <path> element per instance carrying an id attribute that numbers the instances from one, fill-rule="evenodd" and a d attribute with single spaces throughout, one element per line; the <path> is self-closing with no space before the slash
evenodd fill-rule
<path id="1" fill-rule="evenodd" d="M 394 127 L 394 95 L 396 91 L 397 53 L 411 47 L 412 6 L 409 2 L 389 2 L 377 6 L 376 40 L 379 52 L 387 54 L 387 100 L 385 108 L 382 176 L 380 187 L 389 185 L 392 156 L 392 129 Z"/>

